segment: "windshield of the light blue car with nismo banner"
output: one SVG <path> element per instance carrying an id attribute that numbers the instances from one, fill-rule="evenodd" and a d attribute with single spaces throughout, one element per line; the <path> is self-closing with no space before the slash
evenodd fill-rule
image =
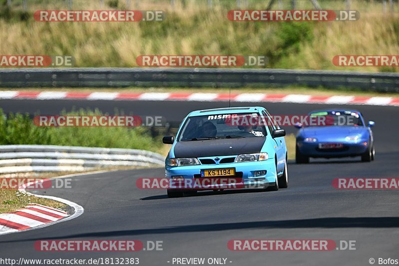
<path id="1" fill-rule="evenodd" d="M 243 124 L 236 126 L 232 119 L 242 117 L 255 117 L 258 114 L 218 114 L 209 116 L 190 117 L 183 126 L 179 141 L 263 137 L 267 133 L 264 126 Z M 242 121 L 242 119 L 240 120 Z"/>

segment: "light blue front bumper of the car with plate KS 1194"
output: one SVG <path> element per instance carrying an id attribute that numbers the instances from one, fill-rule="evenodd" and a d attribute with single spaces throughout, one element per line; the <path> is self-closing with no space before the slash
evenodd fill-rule
<path id="1" fill-rule="evenodd" d="M 235 168 L 235 176 L 212 177 L 229 179 L 228 185 L 212 184 L 207 182 L 206 186 L 195 187 L 194 190 L 214 190 L 214 189 L 240 189 L 240 188 L 265 188 L 272 186 L 276 182 L 276 166 L 274 158 L 265 161 L 254 162 L 238 162 L 223 164 L 200 164 L 190 166 L 169 166 L 165 167 L 165 175 L 167 178 L 174 176 L 182 176 L 187 183 L 196 183 L 204 180 L 201 177 L 201 170 L 205 169 L 221 169 Z M 266 171 L 265 175 L 254 176 L 255 171 Z M 176 187 L 170 189 L 178 189 Z M 179 189 L 180 190 L 180 189 Z"/>

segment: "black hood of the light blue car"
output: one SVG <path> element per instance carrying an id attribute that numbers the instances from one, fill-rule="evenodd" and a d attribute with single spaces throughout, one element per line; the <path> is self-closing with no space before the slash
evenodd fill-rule
<path id="1" fill-rule="evenodd" d="M 223 138 L 179 141 L 175 145 L 176 158 L 237 155 L 260 152 L 266 137 Z"/>

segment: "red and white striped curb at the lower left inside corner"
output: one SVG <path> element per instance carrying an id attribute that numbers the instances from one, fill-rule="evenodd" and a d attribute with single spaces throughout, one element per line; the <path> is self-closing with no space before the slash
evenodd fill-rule
<path id="1" fill-rule="evenodd" d="M 67 212 L 40 204 L 29 204 L 23 209 L 0 214 L 0 234 L 30 229 L 68 217 Z"/>

